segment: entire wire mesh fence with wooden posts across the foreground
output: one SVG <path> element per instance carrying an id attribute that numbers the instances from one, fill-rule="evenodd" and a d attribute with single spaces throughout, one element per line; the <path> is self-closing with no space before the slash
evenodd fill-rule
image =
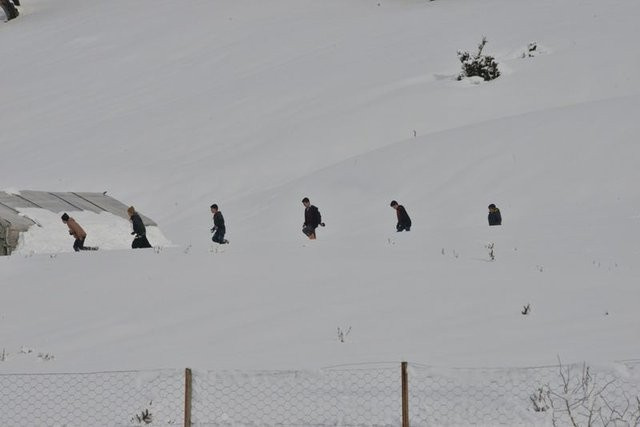
<path id="1" fill-rule="evenodd" d="M 640 361 L 400 368 L 0 375 L 0 426 L 640 426 Z"/>

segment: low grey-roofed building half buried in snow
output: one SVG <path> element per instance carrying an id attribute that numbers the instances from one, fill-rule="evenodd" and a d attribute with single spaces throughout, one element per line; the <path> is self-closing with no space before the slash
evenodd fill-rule
<path id="1" fill-rule="evenodd" d="M 20 208 L 46 209 L 54 213 L 91 211 L 110 212 L 129 219 L 127 205 L 104 193 L 57 193 L 47 191 L 20 191 L 18 194 L 0 191 L 0 255 L 11 255 L 18 245 L 20 233 L 38 225 L 34 219 L 20 213 Z M 140 215 L 145 226 L 157 224 Z"/>

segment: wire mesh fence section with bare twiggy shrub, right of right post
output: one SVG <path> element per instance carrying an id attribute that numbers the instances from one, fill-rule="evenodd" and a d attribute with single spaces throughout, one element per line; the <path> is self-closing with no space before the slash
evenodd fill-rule
<path id="1" fill-rule="evenodd" d="M 635 427 L 640 362 L 512 369 L 411 364 L 409 396 L 412 426 Z"/>

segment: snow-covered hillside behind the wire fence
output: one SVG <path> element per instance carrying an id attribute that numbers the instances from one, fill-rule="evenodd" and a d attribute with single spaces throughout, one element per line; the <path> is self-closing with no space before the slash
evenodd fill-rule
<path id="1" fill-rule="evenodd" d="M 0 258 L 0 372 L 639 357 L 639 14 L 24 0 L 0 24 L 0 189 L 108 190 L 173 245 L 125 249 L 120 224 L 116 250 L 70 253 L 52 220 L 55 244 Z M 483 35 L 502 76 L 456 81 Z"/>

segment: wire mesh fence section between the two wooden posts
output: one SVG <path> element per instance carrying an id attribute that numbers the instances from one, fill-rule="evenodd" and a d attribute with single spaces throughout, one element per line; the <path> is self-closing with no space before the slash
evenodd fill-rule
<path id="1" fill-rule="evenodd" d="M 194 374 L 194 426 L 398 426 L 398 364 Z"/>

